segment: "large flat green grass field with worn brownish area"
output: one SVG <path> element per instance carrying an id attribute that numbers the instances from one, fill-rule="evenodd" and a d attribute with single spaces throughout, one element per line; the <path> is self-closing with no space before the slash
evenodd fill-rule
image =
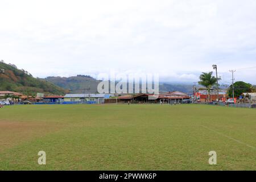
<path id="1" fill-rule="evenodd" d="M 0 109 L 0 170 L 255 170 L 256 110 L 208 105 Z M 46 151 L 47 165 L 38 164 Z M 209 165 L 209 151 L 217 165 Z"/>

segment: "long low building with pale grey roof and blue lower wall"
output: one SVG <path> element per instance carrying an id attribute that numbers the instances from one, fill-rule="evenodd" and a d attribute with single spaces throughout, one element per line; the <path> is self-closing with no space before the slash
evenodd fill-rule
<path id="1" fill-rule="evenodd" d="M 66 94 L 64 104 L 103 104 L 108 94 Z"/>

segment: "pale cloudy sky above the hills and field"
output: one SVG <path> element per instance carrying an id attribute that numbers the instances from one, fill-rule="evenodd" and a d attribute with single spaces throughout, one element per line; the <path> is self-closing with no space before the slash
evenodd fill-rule
<path id="1" fill-rule="evenodd" d="M 0 59 L 35 77 L 110 70 L 256 84 L 255 0 L 0 1 Z"/>

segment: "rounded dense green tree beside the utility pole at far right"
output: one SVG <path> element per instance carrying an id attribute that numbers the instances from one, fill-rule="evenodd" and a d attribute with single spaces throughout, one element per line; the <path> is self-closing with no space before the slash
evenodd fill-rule
<path id="1" fill-rule="evenodd" d="M 254 92 L 254 87 L 243 81 L 237 81 L 234 83 L 234 97 L 241 96 L 242 93 Z M 229 97 L 233 97 L 233 85 L 229 86 L 228 89 Z"/>

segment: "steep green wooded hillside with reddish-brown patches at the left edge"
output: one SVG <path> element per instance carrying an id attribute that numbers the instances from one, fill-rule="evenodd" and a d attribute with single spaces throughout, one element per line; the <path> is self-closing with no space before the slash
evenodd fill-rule
<path id="1" fill-rule="evenodd" d="M 0 61 L 0 90 L 21 92 L 35 96 L 36 93 L 65 94 L 68 90 L 60 88 L 40 78 L 34 78 L 24 69 L 18 69 L 13 64 Z"/>

